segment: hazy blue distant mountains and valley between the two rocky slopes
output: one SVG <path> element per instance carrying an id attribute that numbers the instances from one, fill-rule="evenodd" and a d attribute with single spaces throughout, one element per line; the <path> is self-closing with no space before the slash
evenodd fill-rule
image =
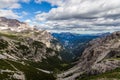
<path id="1" fill-rule="evenodd" d="M 98 37 L 108 35 L 104 34 L 76 34 L 76 33 L 52 33 L 58 41 L 65 47 L 63 57 L 67 60 L 72 60 L 81 55 L 84 51 L 86 44 Z M 65 56 L 66 55 L 66 56 Z M 68 58 L 67 58 L 68 57 Z"/>

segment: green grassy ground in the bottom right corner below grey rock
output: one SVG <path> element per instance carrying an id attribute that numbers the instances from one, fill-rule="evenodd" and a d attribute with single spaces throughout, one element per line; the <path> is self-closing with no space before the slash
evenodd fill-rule
<path id="1" fill-rule="evenodd" d="M 81 79 L 78 80 L 120 80 L 120 68 L 115 70 L 107 71 L 102 74 L 97 75 L 83 75 Z"/>

